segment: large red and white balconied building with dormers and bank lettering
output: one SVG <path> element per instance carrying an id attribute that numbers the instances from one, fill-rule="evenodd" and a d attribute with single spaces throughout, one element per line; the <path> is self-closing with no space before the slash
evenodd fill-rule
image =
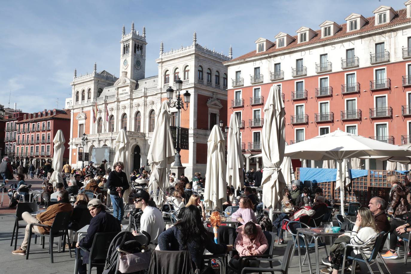
<path id="1" fill-rule="evenodd" d="M 240 120 L 247 169 L 261 166 L 261 158 L 250 157 L 261 152 L 264 98 L 273 85 L 282 91 L 288 144 L 338 128 L 410 143 L 411 1 L 405 6 L 380 6 L 369 18 L 352 13 L 343 24 L 324 21 L 319 30 L 301 27 L 296 35 L 279 32 L 273 41 L 259 38 L 256 50 L 224 63 L 228 117 L 236 113 Z M 385 163 L 367 160 L 365 168 Z"/>

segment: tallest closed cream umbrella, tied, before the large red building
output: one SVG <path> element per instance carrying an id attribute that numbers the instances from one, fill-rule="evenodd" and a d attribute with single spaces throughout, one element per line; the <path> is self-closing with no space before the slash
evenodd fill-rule
<path id="1" fill-rule="evenodd" d="M 263 154 L 263 178 L 261 187 L 263 189 L 263 204 L 270 208 L 270 219 L 272 220 L 272 209 L 281 199 L 281 191 L 286 182 L 281 170 L 284 159 L 284 102 L 281 99 L 279 87 L 272 86 L 264 105 L 264 125 L 261 134 L 261 153 Z M 289 172 L 289 170 L 287 170 Z"/>

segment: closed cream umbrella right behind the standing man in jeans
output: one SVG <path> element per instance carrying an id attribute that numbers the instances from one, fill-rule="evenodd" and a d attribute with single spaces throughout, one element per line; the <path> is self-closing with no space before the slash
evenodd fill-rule
<path id="1" fill-rule="evenodd" d="M 129 138 L 127 136 L 127 132 L 125 129 L 121 129 L 120 132 L 118 133 L 117 138 L 115 138 L 114 141 L 114 147 L 115 147 L 115 155 L 114 155 L 114 160 L 113 160 L 113 170 L 115 169 L 114 164 L 117 162 L 123 162 L 124 163 L 124 169 L 123 172 L 127 175 L 127 178 L 130 176 L 130 171 L 129 171 Z M 129 183 L 130 184 L 130 183 Z M 128 196 L 131 192 L 131 184 L 130 187 L 124 191 L 123 194 L 123 202 L 125 205 L 128 204 Z"/>

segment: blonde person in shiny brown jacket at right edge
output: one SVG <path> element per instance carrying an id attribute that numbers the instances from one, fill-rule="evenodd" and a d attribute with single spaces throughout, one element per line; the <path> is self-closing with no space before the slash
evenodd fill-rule
<path id="1" fill-rule="evenodd" d="M 390 205 L 394 209 L 394 217 L 401 218 L 408 212 L 409 202 L 407 196 L 409 190 L 404 184 L 398 182 L 396 175 L 388 175 L 387 183 L 391 184 Z"/>

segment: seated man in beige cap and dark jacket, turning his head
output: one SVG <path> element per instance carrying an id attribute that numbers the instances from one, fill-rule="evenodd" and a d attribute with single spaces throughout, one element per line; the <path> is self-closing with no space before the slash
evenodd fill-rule
<path id="1" fill-rule="evenodd" d="M 87 273 L 86 264 L 83 264 L 83 262 L 88 262 L 88 257 L 90 256 L 90 253 L 83 251 L 82 249 L 79 249 L 80 246 L 86 249 L 90 249 L 93 244 L 94 235 L 96 233 L 110 233 L 121 231 L 120 222 L 117 219 L 115 219 L 111 214 L 106 212 L 106 206 L 103 205 L 99 199 L 90 200 L 90 202 L 88 202 L 87 204 L 87 208 L 92 216 L 90 226 L 88 226 L 86 236 L 83 239 L 81 239 L 80 242 L 77 242 L 77 249 L 75 249 L 75 251 L 80 252 L 80 255 L 83 257 L 83 259 L 80 259 L 79 261 L 80 274 Z M 109 242 L 111 242 L 111 239 L 109 239 Z M 97 267 L 97 273 L 102 272 L 103 267 Z"/>

